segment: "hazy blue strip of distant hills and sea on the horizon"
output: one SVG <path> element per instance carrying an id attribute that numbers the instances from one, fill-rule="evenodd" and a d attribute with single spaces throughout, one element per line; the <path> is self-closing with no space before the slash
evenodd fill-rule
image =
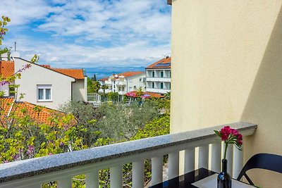
<path id="1" fill-rule="evenodd" d="M 85 68 L 86 75 L 88 77 L 93 77 L 96 75 L 97 79 L 103 77 L 109 77 L 112 74 L 123 73 L 128 71 L 144 71 L 145 67 L 97 67 L 97 68 Z"/>

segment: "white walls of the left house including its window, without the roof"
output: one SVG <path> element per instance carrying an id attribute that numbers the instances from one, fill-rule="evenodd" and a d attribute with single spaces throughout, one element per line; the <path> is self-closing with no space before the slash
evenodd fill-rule
<path id="1" fill-rule="evenodd" d="M 30 63 L 21 58 L 14 58 L 14 61 L 15 71 Z M 58 109 L 61 104 L 68 101 L 87 99 L 85 80 L 75 80 L 37 64 L 32 64 L 30 68 L 24 70 L 16 84 L 20 84 L 18 94 L 25 94 L 23 100 L 47 108 Z"/>

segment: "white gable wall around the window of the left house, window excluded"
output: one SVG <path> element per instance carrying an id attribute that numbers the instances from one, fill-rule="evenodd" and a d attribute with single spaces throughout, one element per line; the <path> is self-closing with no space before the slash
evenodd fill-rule
<path id="1" fill-rule="evenodd" d="M 15 58 L 15 70 L 23 68 L 23 65 L 27 63 L 20 58 Z M 25 101 L 58 109 L 60 104 L 71 100 L 71 82 L 74 81 L 73 78 L 66 75 L 42 68 L 39 65 L 32 65 L 31 68 L 23 71 L 21 78 L 16 80 L 16 84 L 20 84 L 18 93 L 25 94 Z M 37 101 L 37 84 L 51 85 L 51 101 Z"/>

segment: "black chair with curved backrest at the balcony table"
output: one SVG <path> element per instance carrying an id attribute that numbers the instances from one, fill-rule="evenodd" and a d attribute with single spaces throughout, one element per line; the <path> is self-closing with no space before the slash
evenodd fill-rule
<path id="1" fill-rule="evenodd" d="M 246 174 L 247 170 L 253 168 L 266 169 L 277 173 L 282 173 L 282 156 L 271 153 L 255 154 L 255 156 L 252 156 L 249 161 L 247 161 L 240 174 L 238 175 L 237 180 L 240 181 L 241 178 L 245 176 L 250 184 L 255 185 L 250 177 Z"/>

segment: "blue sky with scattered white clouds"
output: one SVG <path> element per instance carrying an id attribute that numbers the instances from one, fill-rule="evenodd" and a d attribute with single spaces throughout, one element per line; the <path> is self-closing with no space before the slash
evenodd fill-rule
<path id="1" fill-rule="evenodd" d="M 171 52 L 166 0 L 4 0 L 0 13 L 2 47 L 53 67 L 147 66 Z"/>

